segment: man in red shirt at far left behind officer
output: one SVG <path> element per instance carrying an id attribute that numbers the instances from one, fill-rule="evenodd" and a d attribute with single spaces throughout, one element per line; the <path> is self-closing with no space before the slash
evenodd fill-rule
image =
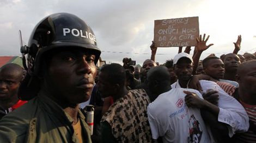
<path id="1" fill-rule="evenodd" d="M 5 64 L 0 69 L 0 106 L 2 113 L 9 113 L 27 101 L 19 100 L 17 90 L 23 77 L 23 68 L 15 63 Z M 5 115 L 1 114 L 0 119 Z"/>

